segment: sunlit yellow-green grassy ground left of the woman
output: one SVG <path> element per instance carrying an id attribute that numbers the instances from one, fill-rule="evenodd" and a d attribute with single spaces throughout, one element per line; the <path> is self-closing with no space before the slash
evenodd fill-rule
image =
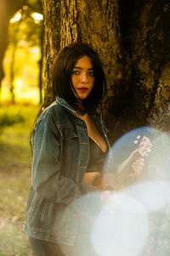
<path id="1" fill-rule="evenodd" d="M 0 256 L 32 256 L 23 230 L 37 105 L 0 105 Z"/>

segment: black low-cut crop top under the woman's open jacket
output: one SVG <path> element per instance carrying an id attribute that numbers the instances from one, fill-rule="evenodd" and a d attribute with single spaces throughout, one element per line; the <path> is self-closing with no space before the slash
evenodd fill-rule
<path id="1" fill-rule="evenodd" d="M 89 138 L 89 161 L 87 172 L 102 172 L 103 165 L 105 162 L 105 156 L 107 151 L 104 153 L 93 139 Z"/>

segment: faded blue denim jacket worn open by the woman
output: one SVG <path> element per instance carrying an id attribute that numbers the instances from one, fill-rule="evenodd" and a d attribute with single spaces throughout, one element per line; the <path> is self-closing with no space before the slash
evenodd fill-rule
<path id="1" fill-rule="evenodd" d="M 90 114 L 105 137 L 101 115 Z M 24 228 L 28 236 L 73 244 L 77 215 L 68 205 L 85 194 L 95 196 L 93 185 L 82 184 L 88 166 L 88 129 L 71 106 L 57 97 L 46 108 L 31 133 L 33 159 L 31 187 Z M 90 193 L 91 192 L 91 193 Z"/>

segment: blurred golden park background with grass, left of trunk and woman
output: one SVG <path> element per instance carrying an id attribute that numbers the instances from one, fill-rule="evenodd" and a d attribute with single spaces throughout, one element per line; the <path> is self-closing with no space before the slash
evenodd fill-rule
<path id="1" fill-rule="evenodd" d="M 42 23 L 42 14 L 27 5 L 8 22 L 0 88 L 0 256 L 33 255 L 23 221 L 31 183 L 30 134 L 43 98 Z"/>

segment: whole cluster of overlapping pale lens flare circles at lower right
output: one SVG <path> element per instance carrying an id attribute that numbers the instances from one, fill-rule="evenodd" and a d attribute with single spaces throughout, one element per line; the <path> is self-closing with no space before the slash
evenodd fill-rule
<path id="1" fill-rule="evenodd" d="M 65 255 L 155 255 L 164 228 L 160 216 L 170 206 L 169 167 L 169 134 L 145 127 L 118 139 L 106 157 L 101 185 L 114 191 L 89 193 L 68 206 L 77 223 L 77 238 L 72 251 L 64 248 Z M 101 204 L 104 193 L 109 196 Z M 69 221 L 72 218 L 67 225 Z M 170 242 L 168 234 L 163 236 Z M 156 242 L 150 249 L 153 237 Z"/>

